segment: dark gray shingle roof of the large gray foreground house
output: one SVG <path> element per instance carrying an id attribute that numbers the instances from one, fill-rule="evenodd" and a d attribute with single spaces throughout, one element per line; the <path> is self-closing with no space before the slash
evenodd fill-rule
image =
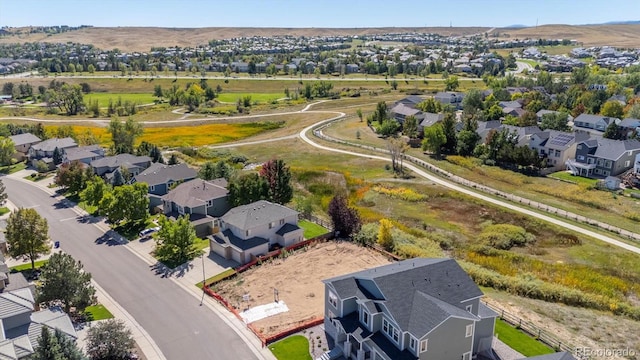
<path id="1" fill-rule="evenodd" d="M 375 300 L 385 305 L 403 331 L 417 338 L 450 316 L 476 319 L 460 304 L 482 296 L 453 259 L 416 258 L 323 280 L 342 299 L 370 298 L 371 293 L 360 284 L 363 281 L 373 282 L 382 294 Z"/>

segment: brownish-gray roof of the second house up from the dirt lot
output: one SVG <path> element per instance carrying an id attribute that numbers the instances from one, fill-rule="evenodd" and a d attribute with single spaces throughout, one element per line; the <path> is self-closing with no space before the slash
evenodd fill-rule
<path id="1" fill-rule="evenodd" d="M 223 198 L 227 194 L 229 190 L 227 190 L 225 179 L 211 181 L 193 179 L 176 186 L 164 195 L 162 200 L 171 201 L 178 206 L 194 208 L 206 204 L 209 200 Z"/>

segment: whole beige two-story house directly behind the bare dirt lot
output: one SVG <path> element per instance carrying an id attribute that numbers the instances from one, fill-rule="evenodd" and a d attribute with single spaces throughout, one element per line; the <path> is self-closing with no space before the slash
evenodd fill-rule
<path id="1" fill-rule="evenodd" d="M 298 212 L 265 200 L 229 210 L 218 225 L 218 231 L 208 237 L 211 251 L 240 264 L 266 254 L 271 246 L 286 247 L 303 240 Z"/>

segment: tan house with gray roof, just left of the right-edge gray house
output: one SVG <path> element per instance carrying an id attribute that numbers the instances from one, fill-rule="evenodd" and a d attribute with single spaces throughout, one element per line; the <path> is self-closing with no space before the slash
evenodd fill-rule
<path id="1" fill-rule="evenodd" d="M 547 159 L 548 168 L 560 171 L 566 168 L 567 160 L 574 157 L 578 143 L 588 139 L 586 133 L 546 130 L 532 134 L 529 146 Z"/>

